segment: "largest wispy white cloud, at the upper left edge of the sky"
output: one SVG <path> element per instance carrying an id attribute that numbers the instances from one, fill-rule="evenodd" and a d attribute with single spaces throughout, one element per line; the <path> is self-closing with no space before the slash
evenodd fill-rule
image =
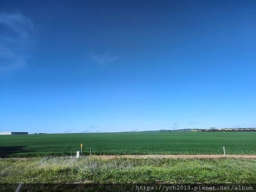
<path id="1" fill-rule="evenodd" d="M 32 21 L 20 13 L 0 12 L 0 70 L 26 64 L 33 28 Z"/>

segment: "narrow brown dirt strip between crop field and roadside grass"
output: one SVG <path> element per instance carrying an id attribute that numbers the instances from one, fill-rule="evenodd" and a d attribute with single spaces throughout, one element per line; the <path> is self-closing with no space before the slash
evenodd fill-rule
<path id="1" fill-rule="evenodd" d="M 218 159 L 224 158 L 223 155 L 93 155 L 93 157 L 101 157 L 105 159 L 115 159 L 120 157 L 133 157 L 133 158 L 188 158 L 188 159 Z M 245 158 L 256 159 L 256 155 L 226 155 L 228 158 Z"/>

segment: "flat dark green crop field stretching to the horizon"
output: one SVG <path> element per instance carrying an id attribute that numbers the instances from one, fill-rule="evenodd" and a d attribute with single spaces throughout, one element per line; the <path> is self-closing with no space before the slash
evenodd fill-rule
<path id="1" fill-rule="evenodd" d="M 256 154 L 256 132 L 123 132 L 0 135 L 0 157 L 84 154 Z"/>

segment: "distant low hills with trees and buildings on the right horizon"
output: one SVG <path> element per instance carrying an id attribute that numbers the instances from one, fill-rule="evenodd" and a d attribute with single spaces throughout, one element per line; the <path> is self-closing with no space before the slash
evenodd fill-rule
<path id="1" fill-rule="evenodd" d="M 209 128 L 209 129 L 176 129 L 176 130 L 166 130 L 161 129 L 159 131 L 162 132 L 173 132 L 173 131 L 192 131 L 192 132 L 206 132 L 206 131 L 218 131 L 218 132 L 226 132 L 226 131 L 256 131 L 256 128 Z"/>

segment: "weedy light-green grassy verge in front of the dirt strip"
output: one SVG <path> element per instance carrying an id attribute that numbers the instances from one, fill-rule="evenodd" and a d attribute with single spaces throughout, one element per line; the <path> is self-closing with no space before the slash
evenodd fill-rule
<path id="1" fill-rule="evenodd" d="M 256 183 L 255 159 L 0 159 L 0 183 Z"/>

